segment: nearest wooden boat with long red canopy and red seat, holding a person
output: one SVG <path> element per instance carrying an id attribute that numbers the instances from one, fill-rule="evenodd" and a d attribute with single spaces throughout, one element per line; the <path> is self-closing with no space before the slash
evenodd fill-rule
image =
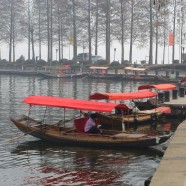
<path id="1" fill-rule="evenodd" d="M 69 98 L 51 96 L 29 96 L 24 103 L 34 106 L 59 107 L 64 109 L 89 110 L 97 112 L 111 112 L 117 104 L 100 103 Z M 45 117 L 44 117 L 45 118 Z M 62 145 L 94 146 L 104 148 L 147 147 L 164 143 L 171 136 L 170 133 L 126 133 L 119 131 L 102 131 L 102 134 L 88 134 L 82 131 L 88 118 L 74 119 L 74 127 L 59 124 L 48 124 L 36 121 L 30 116 L 19 119 L 10 118 L 15 126 L 25 134 L 36 138 L 59 143 Z"/>

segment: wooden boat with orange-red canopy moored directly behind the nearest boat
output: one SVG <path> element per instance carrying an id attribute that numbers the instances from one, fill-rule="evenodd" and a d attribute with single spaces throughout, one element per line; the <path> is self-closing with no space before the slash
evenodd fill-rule
<path id="1" fill-rule="evenodd" d="M 134 100 L 134 99 L 142 99 L 142 98 L 151 98 L 156 96 L 155 92 L 151 92 L 149 90 L 140 91 L 140 92 L 129 92 L 129 93 L 94 93 L 89 96 L 89 99 L 94 100 Z M 116 110 L 116 113 L 110 115 L 99 114 L 99 120 L 102 124 L 113 125 L 113 123 L 118 123 L 118 127 L 121 128 L 121 123 L 143 123 L 146 121 L 151 121 L 154 117 L 159 117 L 164 113 L 170 113 L 170 107 L 157 107 L 155 109 L 150 110 L 136 110 L 132 111 L 127 105 L 125 108 L 121 108 Z M 116 122 L 115 122 L 116 121 Z M 115 126 L 115 125 L 114 125 Z"/>

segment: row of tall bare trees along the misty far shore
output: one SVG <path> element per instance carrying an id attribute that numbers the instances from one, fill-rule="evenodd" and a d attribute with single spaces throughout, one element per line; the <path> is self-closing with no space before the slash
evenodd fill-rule
<path id="1" fill-rule="evenodd" d="M 16 45 L 27 42 L 28 60 L 35 60 L 36 45 L 39 59 L 42 47 L 47 46 L 47 61 L 51 62 L 54 48 L 58 48 L 60 60 L 64 47 L 71 44 L 76 62 L 78 47 L 87 47 L 90 54 L 97 55 L 104 44 L 106 61 L 110 63 L 110 47 L 117 41 L 121 44 L 121 62 L 126 60 L 127 43 L 130 62 L 133 46 L 137 45 L 148 46 L 149 64 L 157 64 L 158 48 L 163 46 L 165 55 L 168 34 L 176 35 L 176 8 L 184 7 L 186 2 L 176 1 L 0 0 L 0 40 L 9 46 L 9 62 L 15 62 Z"/>

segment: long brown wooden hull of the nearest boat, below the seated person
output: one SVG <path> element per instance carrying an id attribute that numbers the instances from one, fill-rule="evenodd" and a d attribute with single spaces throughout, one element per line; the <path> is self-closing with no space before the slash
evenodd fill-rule
<path id="1" fill-rule="evenodd" d="M 148 147 L 164 143 L 170 138 L 170 134 L 159 136 L 147 136 L 146 134 L 126 134 L 108 132 L 103 134 L 76 133 L 72 128 L 57 127 L 51 125 L 38 125 L 38 122 L 27 119 L 10 118 L 16 127 L 26 135 L 55 142 L 61 145 L 75 145 L 88 147 L 124 148 L 124 147 Z M 35 124 L 29 126 L 30 124 Z M 36 125 L 37 124 L 37 125 Z"/>

